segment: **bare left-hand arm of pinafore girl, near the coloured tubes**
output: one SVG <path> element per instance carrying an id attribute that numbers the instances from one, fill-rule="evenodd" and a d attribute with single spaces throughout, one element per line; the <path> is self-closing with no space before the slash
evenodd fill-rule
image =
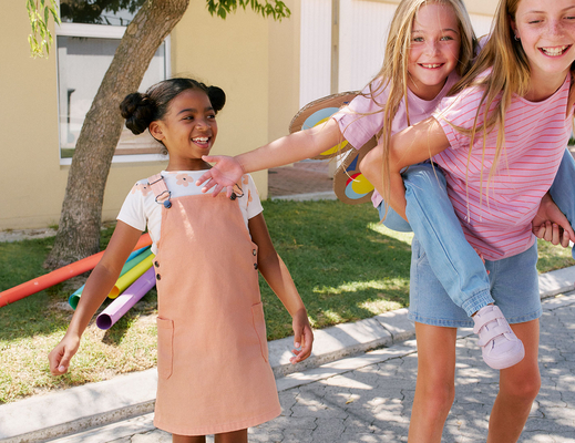
<path id="1" fill-rule="evenodd" d="M 117 222 L 102 259 L 88 278 L 64 338 L 48 356 L 50 372 L 53 375 L 61 375 L 68 371 L 70 360 L 80 347 L 82 333 L 116 282 L 122 267 L 141 235 L 140 230 Z"/>

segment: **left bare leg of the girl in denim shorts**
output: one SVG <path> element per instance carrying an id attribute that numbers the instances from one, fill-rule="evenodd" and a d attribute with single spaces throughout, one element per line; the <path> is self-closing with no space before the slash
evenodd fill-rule
<path id="1" fill-rule="evenodd" d="M 455 328 L 415 322 L 418 381 L 408 442 L 440 443 L 455 396 Z"/>

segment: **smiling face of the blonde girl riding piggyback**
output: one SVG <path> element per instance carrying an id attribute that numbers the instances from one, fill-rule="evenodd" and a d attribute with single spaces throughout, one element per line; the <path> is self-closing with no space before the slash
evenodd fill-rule
<path id="1" fill-rule="evenodd" d="M 423 100 L 433 100 L 456 68 L 461 35 L 448 4 L 422 6 L 413 20 L 408 62 L 408 86 Z"/>

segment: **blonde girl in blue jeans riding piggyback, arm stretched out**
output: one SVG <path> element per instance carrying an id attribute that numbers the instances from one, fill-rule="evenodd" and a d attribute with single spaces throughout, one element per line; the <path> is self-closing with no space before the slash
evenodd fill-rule
<path id="1" fill-rule="evenodd" d="M 204 189 L 215 186 L 216 192 L 227 186 L 229 194 L 230 186 L 245 172 L 312 157 L 343 138 L 359 148 L 377 135 L 378 147 L 387 151 L 394 133 L 431 115 L 461 75 L 471 69 L 475 51 L 476 41 L 461 0 L 402 0 L 390 27 L 383 68 L 348 106 L 324 125 L 290 134 L 235 158 L 205 157 L 216 165 L 198 183 L 207 181 Z M 376 157 L 368 154 L 361 169 L 376 189 L 381 190 L 381 152 L 373 152 L 379 154 Z M 517 363 L 524 357 L 523 344 L 503 312 L 493 305 L 487 272 L 463 234 L 441 171 L 430 163 L 421 164 L 410 167 L 403 178 L 409 190 L 411 228 L 430 258 L 432 270 L 462 315 L 454 326 L 475 323 L 483 359 L 492 368 Z M 372 198 L 380 218 L 387 215 L 383 223 L 398 228 L 400 217 L 391 210 L 386 214 L 381 193 L 373 193 Z M 552 203 L 548 206 L 556 209 Z M 559 218 L 566 231 L 573 234 L 562 214 L 556 217 Z M 405 228 L 410 229 L 409 225 Z M 419 321 L 414 311 L 410 316 Z"/>

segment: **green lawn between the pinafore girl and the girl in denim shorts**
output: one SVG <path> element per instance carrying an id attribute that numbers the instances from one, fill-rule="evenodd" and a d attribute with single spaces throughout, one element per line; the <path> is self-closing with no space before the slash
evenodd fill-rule
<path id="1" fill-rule="evenodd" d="M 276 249 L 315 328 L 408 305 L 410 243 L 377 229 L 370 205 L 266 202 L 265 209 Z M 291 318 L 263 279 L 260 288 L 268 339 L 290 334 Z"/>

